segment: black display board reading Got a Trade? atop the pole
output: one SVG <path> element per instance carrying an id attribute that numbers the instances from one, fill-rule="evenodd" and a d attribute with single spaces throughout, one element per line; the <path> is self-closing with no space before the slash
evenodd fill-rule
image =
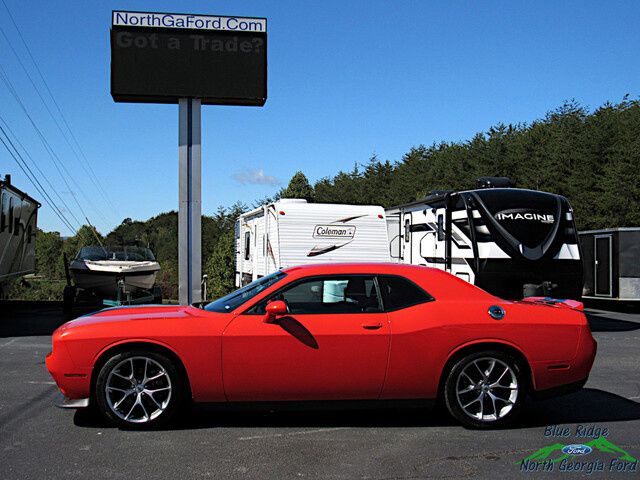
<path id="1" fill-rule="evenodd" d="M 267 20 L 113 11 L 111 96 L 116 102 L 262 106 Z"/>

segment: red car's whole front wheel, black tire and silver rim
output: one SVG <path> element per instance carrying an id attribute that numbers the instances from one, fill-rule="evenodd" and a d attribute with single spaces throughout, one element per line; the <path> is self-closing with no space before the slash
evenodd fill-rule
<path id="1" fill-rule="evenodd" d="M 146 369 L 144 372 L 143 368 Z M 122 376 L 126 377 L 130 370 L 135 372 L 134 379 L 150 379 L 145 383 L 124 379 Z M 183 385 L 170 358 L 154 351 L 136 349 L 117 353 L 107 360 L 98 373 L 94 398 L 98 411 L 109 423 L 127 429 L 151 429 L 166 425 L 176 414 L 183 403 Z M 122 403 L 118 404 L 121 399 Z M 136 406 L 137 403 L 140 404 Z M 127 417 L 125 412 L 129 409 L 131 412 Z"/>

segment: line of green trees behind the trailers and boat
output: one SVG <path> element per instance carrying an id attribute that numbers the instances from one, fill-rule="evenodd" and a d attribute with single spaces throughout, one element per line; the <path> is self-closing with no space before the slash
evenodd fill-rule
<path id="1" fill-rule="evenodd" d="M 371 157 L 311 184 L 296 172 L 277 198 L 305 198 L 324 203 L 389 207 L 420 199 L 431 190 L 468 189 L 481 176 L 507 176 L 518 187 L 564 195 L 571 202 L 579 230 L 640 225 L 640 101 L 625 97 L 589 111 L 566 102 L 531 123 L 498 124 L 463 142 L 440 142 L 411 148 L 392 162 Z M 202 217 L 203 273 L 211 297 L 233 289 L 234 224 L 248 206 L 237 203 Z M 156 255 L 162 270 L 158 283 L 166 298 L 177 298 L 178 220 L 176 212 L 146 221 L 125 219 L 102 240 L 119 245 L 137 242 Z M 39 231 L 37 273 L 64 278 L 62 253 L 73 258 L 80 246 L 95 244 L 84 226 L 70 238 Z M 35 285 L 35 286 L 34 286 Z M 47 283 L 17 283 L 14 298 L 59 298 Z"/>

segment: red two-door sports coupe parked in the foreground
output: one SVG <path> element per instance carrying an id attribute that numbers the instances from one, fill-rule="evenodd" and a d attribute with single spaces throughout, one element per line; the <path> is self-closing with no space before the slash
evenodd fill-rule
<path id="1" fill-rule="evenodd" d="M 581 304 L 510 302 L 395 264 L 280 270 L 205 305 L 111 308 L 57 329 L 47 368 L 120 426 L 186 401 L 441 399 L 503 426 L 528 394 L 581 388 L 596 352 Z"/>

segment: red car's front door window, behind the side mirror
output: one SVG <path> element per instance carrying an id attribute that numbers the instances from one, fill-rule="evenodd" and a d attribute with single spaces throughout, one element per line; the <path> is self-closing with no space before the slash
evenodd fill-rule
<path id="1" fill-rule="evenodd" d="M 380 312 L 373 276 L 316 277 L 285 287 L 248 313 L 264 314 L 272 300 L 283 300 L 294 314 Z"/>

